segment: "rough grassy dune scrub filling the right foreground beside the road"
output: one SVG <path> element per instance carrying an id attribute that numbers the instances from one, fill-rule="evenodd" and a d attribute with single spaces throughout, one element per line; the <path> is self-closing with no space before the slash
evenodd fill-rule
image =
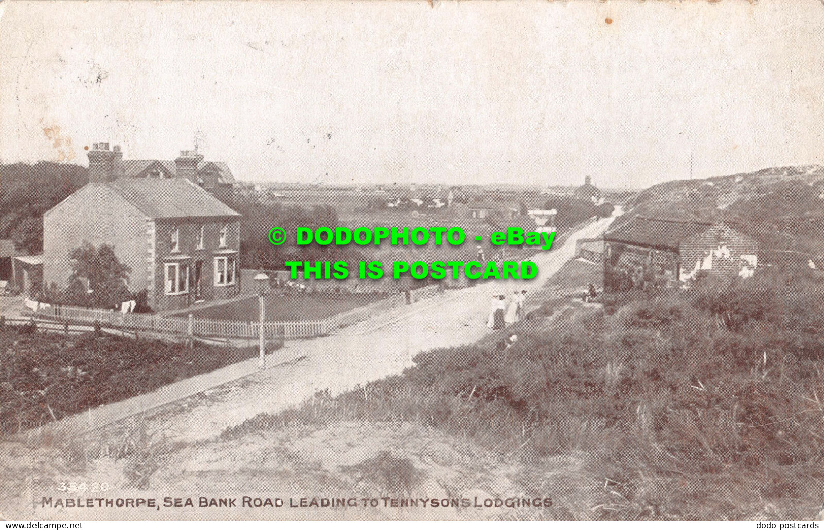
<path id="1" fill-rule="evenodd" d="M 523 492 L 555 491 L 554 518 L 808 519 L 824 484 L 822 331 L 815 270 L 635 290 L 509 349 L 491 337 L 420 354 L 401 376 L 222 438 L 414 422 L 526 464 Z M 579 472 L 553 478 L 559 457 Z"/>

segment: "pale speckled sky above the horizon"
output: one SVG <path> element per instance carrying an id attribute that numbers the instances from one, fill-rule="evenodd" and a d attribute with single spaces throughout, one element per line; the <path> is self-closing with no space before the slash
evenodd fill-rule
<path id="1" fill-rule="evenodd" d="M 645 187 L 824 162 L 824 5 L 2 2 L 0 159 Z M 607 19 L 611 23 L 607 23 Z"/>

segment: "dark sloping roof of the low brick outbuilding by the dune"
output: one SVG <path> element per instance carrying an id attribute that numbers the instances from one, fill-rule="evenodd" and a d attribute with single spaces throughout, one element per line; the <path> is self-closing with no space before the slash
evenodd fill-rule
<path id="1" fill-rule="evenodd" d="M 630 245 L 668 248 L 677 250 L 688 237 L 706 232 L 714 223 L 688 221 L 686 219 L 645 218 L 636 216 L 630 221 L 611 228 L 604 240 L 629 243 Z"/>

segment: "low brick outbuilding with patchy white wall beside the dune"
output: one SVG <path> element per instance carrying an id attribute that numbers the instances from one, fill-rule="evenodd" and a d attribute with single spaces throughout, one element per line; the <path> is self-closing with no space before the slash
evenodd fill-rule
<path id="1" fill-rule="evenodd" d="M 683 285 L 703 278 L 750 278 L 758 243 L 724 223 L 636 216 L 604 236 L 604 283 Z M 611 286 L 611 287 L 610 287 Z"/>

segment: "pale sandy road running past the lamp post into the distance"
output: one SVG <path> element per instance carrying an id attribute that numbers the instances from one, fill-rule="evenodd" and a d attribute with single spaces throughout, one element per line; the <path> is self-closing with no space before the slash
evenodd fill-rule
<path id="1" fill-rule="evenodd" d="M 328 388 L 335 395 L 400 373 L 410 366 L 415 354 L 428 349 L 475 342 L 490 332 L 485 322 L 493 294 L 543 285 L 574 255 L 576 239 L 596 237 L 611 220 L 589 224 L 571 234 L 563 246 L 535 256 L 536 279 L 493 281 L 443 293 L 382 320 L 344 328 L 338 335 L 290 342 L 289 356 L 301 354 L 304 358 L 232 383 L 228 392 L 190 403 L 185 410 L 174 405 L 159 409 L 150 421 L 168 426 L 184 440 L 210 439 L 261 412 L 274 413 L 297 405 L 319 390 Z"/>

